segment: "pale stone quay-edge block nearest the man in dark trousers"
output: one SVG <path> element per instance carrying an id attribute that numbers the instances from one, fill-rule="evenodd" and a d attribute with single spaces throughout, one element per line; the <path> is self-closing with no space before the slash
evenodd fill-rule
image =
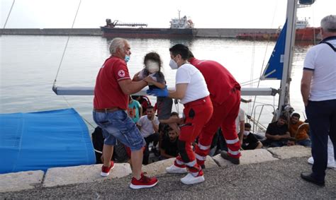
<path id="1" fill-rule="evenodd" d="M 267 150 L 279 159 L 311 156 L 311 148 L 299 145 L 267 148 Z"/>

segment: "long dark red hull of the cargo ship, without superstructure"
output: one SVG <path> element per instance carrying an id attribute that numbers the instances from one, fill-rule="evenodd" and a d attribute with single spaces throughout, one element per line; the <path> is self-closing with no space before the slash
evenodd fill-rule
<path id="1" fill-rule="evenodd" d="M 193 37 L 193 29 L 173 29 L 173 28 L 109 28 L 101 27 L 103 37 L 135 37 L 135 38 L 156 38 Z"/>

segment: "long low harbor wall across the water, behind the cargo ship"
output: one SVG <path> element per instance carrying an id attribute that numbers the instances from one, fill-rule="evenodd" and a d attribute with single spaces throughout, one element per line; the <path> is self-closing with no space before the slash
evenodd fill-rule
<path id="1" fill-rule="evenodd" d="M 235 37 L 238 33 L 276 33 L 271 28 L 195 28 L 194 37 Z M 101 36 L 100 28 L 5 28 L 0 35 L 96 35 Z"/>

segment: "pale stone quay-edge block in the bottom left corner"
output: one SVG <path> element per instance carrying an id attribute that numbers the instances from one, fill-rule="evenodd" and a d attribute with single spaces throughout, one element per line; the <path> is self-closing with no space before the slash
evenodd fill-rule
<path id="1" fill-rule="evenodd" d="M 42 170 L 14 172 L 0 175 L 0 192 L 15 192 L 33 189 L 42 184 Z"/>

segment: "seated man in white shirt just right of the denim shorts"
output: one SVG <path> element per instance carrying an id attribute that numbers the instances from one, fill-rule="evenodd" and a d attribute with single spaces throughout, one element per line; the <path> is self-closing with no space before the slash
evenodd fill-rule
<path id="1" fill-rule="evenodd" d="M 147 114 L 140 117 L 137 125 L 146 141 L 146 151 L 143 156 L 142 163 L 147 165 L 149 162 L 149 145 L 153 142 L 152 151 L 155 153 L 157 143 L 159 142 L 159 119 L 154 114 L 154 107 L 150 105 L 147 107 Z"/>

